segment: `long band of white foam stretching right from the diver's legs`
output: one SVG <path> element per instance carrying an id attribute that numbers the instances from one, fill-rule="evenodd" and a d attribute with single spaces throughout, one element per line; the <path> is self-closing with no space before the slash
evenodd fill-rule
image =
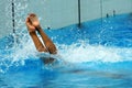
<path id="1" fill-rule="evenodd" d="M 70 63 L 87 62 L 123 62 L 132 61 L 132 48 L 92 46 L 89 44 L 59 45 L 59 54 L 63 59 Z"/>

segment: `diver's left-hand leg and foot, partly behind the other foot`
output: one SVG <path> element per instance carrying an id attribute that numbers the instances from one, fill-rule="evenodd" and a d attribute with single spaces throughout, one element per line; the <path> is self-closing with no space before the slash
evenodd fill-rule
<path id="1" fill-rule="evenodd" d="M 31 21 L 30 21 L 30 16 L 26 18 L 26 26 L 29 30 L 29 33 L 34 42 L 34 45 L 36 47 L 36 50 L 38 52 L 47 52 L 47 50 L 44 47 L 44 45 L 42 44 L 42 42 L 40 41 L 40 38 L 37 37 L 36 33 L 35 33 L 35 28 L 32 25 Z"/>

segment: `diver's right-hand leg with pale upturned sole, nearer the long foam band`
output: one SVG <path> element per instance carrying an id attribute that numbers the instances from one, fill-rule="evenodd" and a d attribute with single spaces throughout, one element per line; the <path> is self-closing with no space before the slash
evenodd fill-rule
<path id="1" fill-rule="evenodd" d="M 47 48 L 47 51 L 51 54 L 56 54 L 57 50 L 56 46 L 54 45 L 54 43 L 51 41 L 51 38 L 43 32 L 38 19 L 35 14 L 30 14 L 30 21 L 32 23 L 32 25 L 34 25 L 34 28 L 37 30 L 37 32 L 40 33 L 40 35 L 42 36 L 42 40 Z"/>

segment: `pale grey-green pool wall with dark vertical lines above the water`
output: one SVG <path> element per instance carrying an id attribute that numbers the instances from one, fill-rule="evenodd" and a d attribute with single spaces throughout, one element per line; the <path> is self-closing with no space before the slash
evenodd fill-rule
<path id="1" fill-rule="evenodd" d="M 12 2 L 2 0 L 0 37 L 12 33 Z M 131 0 L 80 0 L 80 22 L 132 12 Z M 15 30 L 25 28 L 28 13 L 40 16 L 44 29 L 58 29 L 78 23 L 78 0 L 14 0 Z M 6 32 L 3 32 L 3 30 Z"/>

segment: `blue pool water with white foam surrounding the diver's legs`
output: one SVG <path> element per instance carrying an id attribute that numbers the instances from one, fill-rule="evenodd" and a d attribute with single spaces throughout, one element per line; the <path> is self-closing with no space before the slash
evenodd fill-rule
<path id="1" fill-rule="evenodd" d="M 44 65 L 26 29 L 0 38 L 0 88 L 132 88 L 132 15 L 44 30 L 58 48 Z"/>

